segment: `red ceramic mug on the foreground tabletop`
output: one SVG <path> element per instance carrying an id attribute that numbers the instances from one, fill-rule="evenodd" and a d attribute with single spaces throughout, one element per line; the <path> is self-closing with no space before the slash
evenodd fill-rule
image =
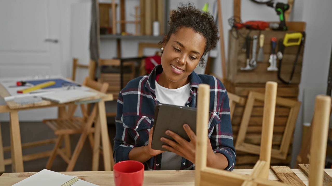
<path id="1" fill-rule="evenodd" d="M 144 178 L 143 163 L 127 160 L 113 166 L 115 186 L 142 186 Z"/>

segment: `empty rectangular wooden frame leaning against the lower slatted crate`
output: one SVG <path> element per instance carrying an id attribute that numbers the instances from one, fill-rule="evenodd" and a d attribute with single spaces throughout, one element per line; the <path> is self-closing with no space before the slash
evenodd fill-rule
<path id="1" fill-rule="evenodd" d="M 264 101 L 265 100 L 264 94 L 258 93 L 258 92 L 252 92 L 252 91 L 249 92 L 247 103 L 246 103 L 246 106 L 245 106 L 245 109 L 243 112 L 239 132 L 238 132 L 236 143 L 235 143 L 235 149 L 237 151 L 242 151 L 242 152 L 246 152 L 246 153 L 259 155 L 259 151 L 261 148 L 259 145 L 254 145 L 254 144 L 244 142 L 255 100 Z M 294 131 L 294 127 L 295 127 L 295 123 L 296 123 L 296 118 L 297 118 L 301 103 L 298 101 L 295 101 L 295 100 L 277 97 L 276 105 L 288 107 L 288 108 L 290 108 L 290 112 L 288 115 L 288 119 L 287 119 L 287 123 L 285 126 L 282 141 L 280 144 L 280 148 L 272 149 L 271 157 L 281 159 L 281 160 L 286 160 L 287 155 L 288 155 L 288 150 L 290 147 L 290 143 L 291 143 L 291 139 L 292 139 L 292 135 L 293 135 L 293 131 Z"/>

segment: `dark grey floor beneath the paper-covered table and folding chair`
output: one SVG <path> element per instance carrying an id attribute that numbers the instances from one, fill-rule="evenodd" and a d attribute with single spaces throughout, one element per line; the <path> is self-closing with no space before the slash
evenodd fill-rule
<path id="1" fill-rule="evenodd" d="M 108 119 L 109 120 L 109 119 Z M 113 120 L 113 119 L 112 119 Z M 21 141 L 22 143 L 26 142 L 34 142 L 43 139 L 50 139 L 54 138 L 55 135 L 53 131 L 45 124 L 41 122 L 20 122 L 21 127 Z M 115 137 L 115 124 L 109 123 L 108 124 L 109 136 L 110 141 L 113 147 L 113 139 Z M 2 133 L 2 140 L 3 146 L 10 146 L 10 135 L 9 135 L 9 123 L 8 122 L 1 122 L 1 133 Z M 71 135 L 71 148 L 72 152 L 77 144 L 80 135 Z M 23 149 L 23 155 L 37 153 L 42 151 L 49 151 L 53 149 L 54 144 L 46 145 L 46 146 L 39 146 L 30 149 Z M 5 159 L 10 158 L 10 152 L 4 153 Z M 38 160 L 32 160 L 24 162 L 24 171 L 25 172 L 38 172 L 45 168 L 48 158 L 42 158 Z M 92 152 L 91 147 L 88 140 L 85 142 L 82 152 L 77 160 L 77 163 L 74 167 L 73 171 L 91 171 L 91 161 L 92 160 Z M 67 164 L 60 158 L 59 156 L 56 157 L 54 164 L 52 166 L 53 171 L 65 171 Z M 99 170 L 104 170 L 103 166 L 103 157 L 100 157 L 100 166 Z M 5 167 L 6 172 L 12 172 L 11 165 L 6 165 Z M 1 174 L 1 173 L 0 173 Z"/>

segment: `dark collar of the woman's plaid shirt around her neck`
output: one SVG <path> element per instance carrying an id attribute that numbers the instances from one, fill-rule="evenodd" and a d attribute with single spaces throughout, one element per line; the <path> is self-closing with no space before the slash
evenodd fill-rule
<path id="1" fill-rule="evenodd" d="M 147 82 L 145 84 L 145 87 L 150 90 L 153 94 L 156 93 L 156 75 L 160 74 L 163 71 L 163 68 L 161 65 L 157 65 L 154 67 L 154 69 L 151 71 Z M 197 89 L 198 85 L 203 83 L 201 78 L 197 75 L 195 71 L 193 71 L 189 75 L 190 79 L 190 91 L 193 93 L 193 88 Z"/>

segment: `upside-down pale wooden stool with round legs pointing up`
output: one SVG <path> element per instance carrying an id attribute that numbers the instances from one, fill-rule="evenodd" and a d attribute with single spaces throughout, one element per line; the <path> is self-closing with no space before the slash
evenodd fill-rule
<path id="1" fill-rule="evenodd" d="M 197 101 L 197 142 L 195 186 L 290 186 L 289 184 L 268 180 L 273 123 L 276 108 L 277 83 L 267 82 L 263 113 L 263 128 L 260 157 L 250 175 L 241 175 L 226 170 L 207 167 L 207 122 L 209 116 L 209 86 L 199 85 Z M 316 97 L 314 129 L 311 149 L 309 186 L 322 186 L 323 160 L 326 153 L 326 139 L 330 118 L 331 97 Z"/>

